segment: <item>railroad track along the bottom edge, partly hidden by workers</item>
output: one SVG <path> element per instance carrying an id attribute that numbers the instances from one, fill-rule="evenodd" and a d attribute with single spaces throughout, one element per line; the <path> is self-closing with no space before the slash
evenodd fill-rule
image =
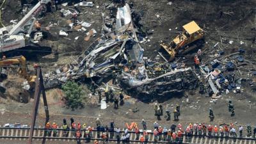
<path id="1" fill-rule="evenodd" d="M 53 136 L 53 132 L 51 132 L 51 136 L 45 136 L 46 129 L 38 127 L 35 128 L 33 133 L 33 141 L 45 140 L 45 141 L 76 141 L 76 138 L 73 136 L 74 131 L 68 131 L 68 136 L 63 136 L 63 129 L 57 129 L 58 133 L 56 136 Z M 1 127 L 0 125 L 0 140 L 1 139 L 10 139 L 10 140 L 28 140 L 29 139 L 30 128 L 14 128 L 14 127 Z M 129 131 L 130 135 L 130 143 L 139 144 L 140 141 L 136 140 L 136 134 L 133 131 Z M 102 132 L 97 132 L 93 130 L 92 138 L 90 140 L 102 140 L 99 136 Z M 120 135 L 124 134 L 124 131 L 120 132 Z M 141 136 L 142 133 L 140 133 Z M 109 133 L 109 143 L 118 143 L 113 134 L 113 138 Z M 148 143 L 168 143 L 168 141 L 157 141 L 154 142 L 154 136 L 152 132 L 148 132 Z M 82 131 L 81 143 L 84 141 L 88 141 L 84 138 L 84 131 Z M 163 140 L 163 138 L 162 138 Z M 180 140 L 184 144 L 256 144 L 255 138 L 233 138 L 233 137 L 221 137 L 221 136 L 183 136 Z"/>

